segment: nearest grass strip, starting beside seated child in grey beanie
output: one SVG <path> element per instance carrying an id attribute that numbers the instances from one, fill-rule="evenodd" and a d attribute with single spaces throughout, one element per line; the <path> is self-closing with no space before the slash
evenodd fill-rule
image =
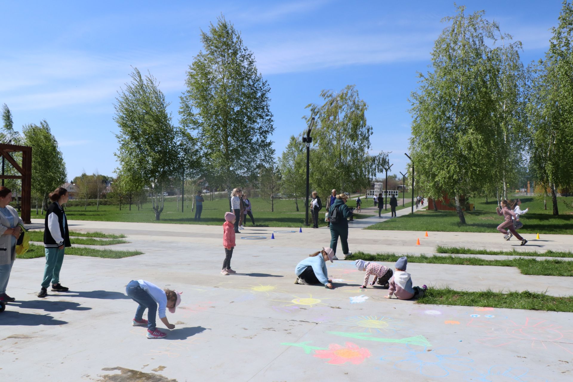
<path id="1" fill-rule="evenodd" d="M 481 306 L 484 308 L 507 308 L 528 310 L 551 310 L 573 312 L 573 296 L 554 297 L 535 292 L 500 293 L 484 290 L 467 292 L 450 288 L 429 288 L 418 304 Z"/>

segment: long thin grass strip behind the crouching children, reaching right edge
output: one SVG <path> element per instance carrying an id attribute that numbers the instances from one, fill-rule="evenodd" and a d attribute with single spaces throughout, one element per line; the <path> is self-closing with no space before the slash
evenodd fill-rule
<path id="1" fill-rule="evenodd" d="M 370 254 L 363 252 L 352 253 L 345 260 L 363 259 L 366 261 L 384 261 L 395 262 L 402 255 L 393 253 Z M 428 264 L 452 264 L 452 265 L 490 265 L 517 267 L 522 274 L 543 275 L 543 276 L 573 276 L 573 261 L 567 260 L 536 260 L 527 258 L 503 259 L 503 260 L 485 260 L 476 257 L 460 256 L 409 256 L 410 263 L 428 263 Z"/>

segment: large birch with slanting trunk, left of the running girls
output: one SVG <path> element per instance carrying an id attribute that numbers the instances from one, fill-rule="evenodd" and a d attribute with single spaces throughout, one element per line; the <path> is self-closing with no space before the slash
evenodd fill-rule
<path id="1" fill-rule="evenodd" d="M 461 224 L 460 197 L 486 184 L 497 160 L 490 89 L 496 70 L 485 43 L 494 35 L 483 11 L 464 10 L 459 6 L 456 15 L 442 20 L 450 25 L 435 40 L 430 71 L 419 73 L 419 88 L 411 94 L 410 139 L 417 187 L 434 197 L 454 196 Z"/>

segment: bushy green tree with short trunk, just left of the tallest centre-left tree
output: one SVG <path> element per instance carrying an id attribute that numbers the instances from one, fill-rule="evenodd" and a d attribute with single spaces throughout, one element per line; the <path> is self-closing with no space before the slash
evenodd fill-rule
<path id="1" fill-rule="evenodd" d="M 155 219 L 164 208 L 163 187 L 171 176 L 180 174 L 181 146 L 185 132 L 171 123 L 168 103 L 159 83 L 151 74 L 142 77 L 137 68 L 130 74 L 131 83 L 119 93 L 115 118 L 120 128 L 116 134 L 123 182 L 134 190 L 148 186 L 153 192 Z"/>

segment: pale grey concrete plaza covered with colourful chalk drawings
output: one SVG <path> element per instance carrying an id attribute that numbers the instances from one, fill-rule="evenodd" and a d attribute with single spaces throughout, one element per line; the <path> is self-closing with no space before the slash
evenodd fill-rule
<path id="1" fill-rule="evenodd" d="M 236 275 L 218 273 L 221 227 L 70 221 L 74 230 L 128 235 L 145 254 L 124 259 L 66 255 L 62 283 L 73 292 L 38 299 L 44 259 L 18 260 L 0 313 L 0 375 L 6 381 L 570 381 L 573 314 L 418 305 L 359 289 L 352 262 L 328 264 L 336 289 L 295 285 L 294 267 L 327 244 L 327 230 L 237 235 Z M 266 239 L 241 239 L 262 235 Z M 505 249 L 496 234 L 352 230 L 351 248 L 430 251 L 463 237 L 469 246 Z M 573 245 L 546 235 L 546 248 Z M 521 249 L 520 249 L 521 250 Z M 391 264 L 387 264 L 391 266 Z M 573 294 L 570 278 L 525 276 L 511 267 L 410 263 L 415 284 L 462 289 Z M 183 292 L 165 340 L 131 326 L 131 279 Z M 159 328 L 164 328 L 162 324 Z"/>

